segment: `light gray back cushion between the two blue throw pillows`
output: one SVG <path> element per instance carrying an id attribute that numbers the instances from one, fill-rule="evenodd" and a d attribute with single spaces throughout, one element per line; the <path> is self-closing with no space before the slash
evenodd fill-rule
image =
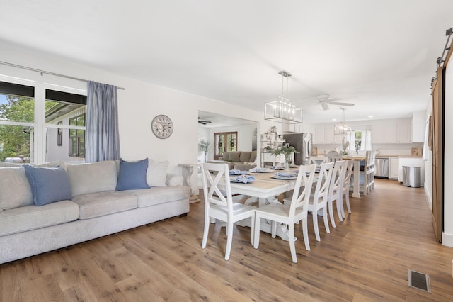
<path id="1" fill-rule="evenodd" d="M 117 170 L 114 160 L 91 164 L 66 164 L 72 196 L 102 191 L 114 191 Z"/>

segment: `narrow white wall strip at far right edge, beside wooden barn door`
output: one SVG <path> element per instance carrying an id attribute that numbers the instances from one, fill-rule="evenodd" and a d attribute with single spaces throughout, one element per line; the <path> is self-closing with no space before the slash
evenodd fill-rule
<path id="1" fill-rule="evenodd" d="M 444 231 L 442 245 L 453 247 L 453 62 L 447 65 L 445 72 L 445 140 L 444 140 Z"/>

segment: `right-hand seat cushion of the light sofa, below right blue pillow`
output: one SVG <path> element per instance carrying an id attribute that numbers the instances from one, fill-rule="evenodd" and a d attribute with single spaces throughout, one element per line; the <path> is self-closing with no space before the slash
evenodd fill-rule
<path id="1" fill-rule="evenodd" d="M 147 206 L 154 206 L 168 201 L 177 201 L 190 196 L 190 188 L 188 186 L 154 186 L 151 189 L 130 190 L 127 192 L 137 196 L 139 208 L 146 208 Z"/>

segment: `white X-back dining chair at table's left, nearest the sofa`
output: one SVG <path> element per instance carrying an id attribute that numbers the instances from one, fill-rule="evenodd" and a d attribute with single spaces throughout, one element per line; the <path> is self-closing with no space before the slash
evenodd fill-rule
<path id="1" fill-rule="evenodd" d="M 202 163 L 202 181 L 205 196 L 205 230 L 201 247 L 203 249 L 206 247 L 211 218 L 224 221 L 226 223 L 225 260 L 228 260 L 233 241 L 233 224 L 237 221 L 251 218 L 251 244 L 253 245 L 255 208 L 233 202 L 228 164 Z"/>

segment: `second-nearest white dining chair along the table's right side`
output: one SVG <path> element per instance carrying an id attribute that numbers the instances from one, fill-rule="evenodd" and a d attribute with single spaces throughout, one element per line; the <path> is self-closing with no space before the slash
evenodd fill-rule
<path id="1" fill-rule="evenodd" d="M 308 211 L 313 216 L 313 228 L 316 240 L 321 241 L 319 236 L 318 228 L 318 211 L 322 210 L 324 227 L 327 233 L 331 233 L 328 228 L 328 217 L 327 217 L 327 200 L 328 200 L 328 186 L 331 184 L 331 177 L 333 172 L 333 162 L 325 162 L 321 164 L 319 169 L 318 180 L 314 189 L 314 194 L 310 194 Z"/>

